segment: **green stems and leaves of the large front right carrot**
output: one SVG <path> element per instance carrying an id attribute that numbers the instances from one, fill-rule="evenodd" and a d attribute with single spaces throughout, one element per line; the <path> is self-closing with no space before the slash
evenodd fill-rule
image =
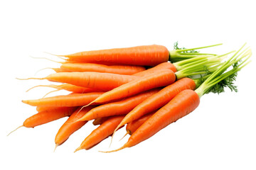
<path id="1" fill-rule="evenodd" d="M 247 60 L 252 56 L 252 52 L 249 47 L 241 52 L 245 45 L 242 45 L 240 50 L 235 52 L 235 54 L 225 61 L 219 69 L 213 72 L 213 74 L 210 74 L 206 81 L 196 89 L 198 96 L 201 97 L 203 94 L 208 94 L 210 92 L 219 94 L 224 91 L 226 86 L 231 91 L 238 91 L 237 86 L 234 85 L 233 81 L 235 81 L 237 72 L 240 71 L 242 67 L 249 64 L 250 61 L 247 62 Z M 233 69 L 226 72 L 230 66 L 233 66 Z"/>

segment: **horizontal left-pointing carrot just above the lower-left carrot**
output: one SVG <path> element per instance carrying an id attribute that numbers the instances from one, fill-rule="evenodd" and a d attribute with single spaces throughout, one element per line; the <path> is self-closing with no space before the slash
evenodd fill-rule
<path id="1" fill-rule="evenodd" d="M 84 106 L 102 95 L 103 92 L 92 92 L 87 94 L 69 94 L 53 96 L 48 98 L 40 98 L 36 100 L 22 101 L 31 106 L 50 106 L 50 107 L 72 107 Z"/>

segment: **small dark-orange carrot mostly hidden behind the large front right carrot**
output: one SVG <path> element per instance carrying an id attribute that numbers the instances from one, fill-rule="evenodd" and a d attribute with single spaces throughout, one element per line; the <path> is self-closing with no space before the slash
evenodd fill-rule
<path id="1" fill-rule="evenodd" d="M 146 114 L 144 116 L 142 116 L 142 118 L 139 118 L 137 120 L 133 120 L 130 123 L 127 123 L 126 126 L 126 130 L 127 130 L 127 134 L 132 135 L 144 122 L 146 122 L 146 120 L 148 120 L 154 113 L 149 113 Z"/>

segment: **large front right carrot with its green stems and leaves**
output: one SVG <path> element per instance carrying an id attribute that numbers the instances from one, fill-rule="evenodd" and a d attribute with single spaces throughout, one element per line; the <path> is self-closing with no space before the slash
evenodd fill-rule
<path id="1" fill-rule="evenodd" d="M 244 47 L 244 45 L 242 47 Z M 240 50 L 242 50 L 242 47 Z M 238 52 L 240 52 L 240 50 L 238 50 Z M 174 123 L 179 118 L 183 118 L 183 116 L 191 113 L 198 107 L 200 98 L 203 96 L 203 94 L 207 94 L 210 91 L 218 93 L 223 92 L 224 86 L 228 86 L 231 90 L 236 90 L 236 86 L 233 85 L 233 81 L 237 75 L 236 73 L 249 63 L 245 62 L 251 56 L 250 50 L 244 50 L 239 55 L 238 52 L 236 52 L 233 57 L 230 57 L 230 59 L 226 61 L 225 64 L 223 64 L 219 69 L 213 72 L 213 74 L 211 74 L 210 77 L 208 77 L 206 81 L 204 81 L 203 84 L 201 84 L 201 86 L 196 89 L 196 91 L 191 89 L 181 91 L 171 101 L 169 101 L 169 103 L 160 108 L 159 111 L 156 111 L 156 113 L 154 113 L 151 118 L 146 120 L 146 122 L 143 123 L 131 135 L 131 137 L 129 137 L 127 143 L 125 143 L 119 149 L 110 152 L 137 145 L 152 135 L 156 134 L 156 132 L 159 132 L 159 130 L 165 128 L 167 125 Z M 240 55 L 242 56 L 239 57 Z M 238 62 L 240 62 L 244 57 L 247 58 L 238 64 Z M 231 65 L 233 65 L 233 69 L 225 72 L 225 70 L 228 69 L 228 67 Z"/>

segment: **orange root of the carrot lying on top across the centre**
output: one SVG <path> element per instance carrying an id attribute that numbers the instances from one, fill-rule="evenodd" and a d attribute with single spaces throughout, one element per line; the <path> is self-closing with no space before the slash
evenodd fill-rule
<path id="1" fill-rule="evenodd" d="M 139 94 L 142 91 L 154 89 L 161 86 L 168 86 L 174 83 L 176 76 L 170 69 L 162 69 L 153 74 L 148 74 L 144 77 L 130 81 L 127 84 L 123 84 L 111 91 L 105 92 L 100 97 L 96 98 L 92 103 L 103 103 L 112 101 L 119 98 L 125 98 L 134 94 Z"/>

